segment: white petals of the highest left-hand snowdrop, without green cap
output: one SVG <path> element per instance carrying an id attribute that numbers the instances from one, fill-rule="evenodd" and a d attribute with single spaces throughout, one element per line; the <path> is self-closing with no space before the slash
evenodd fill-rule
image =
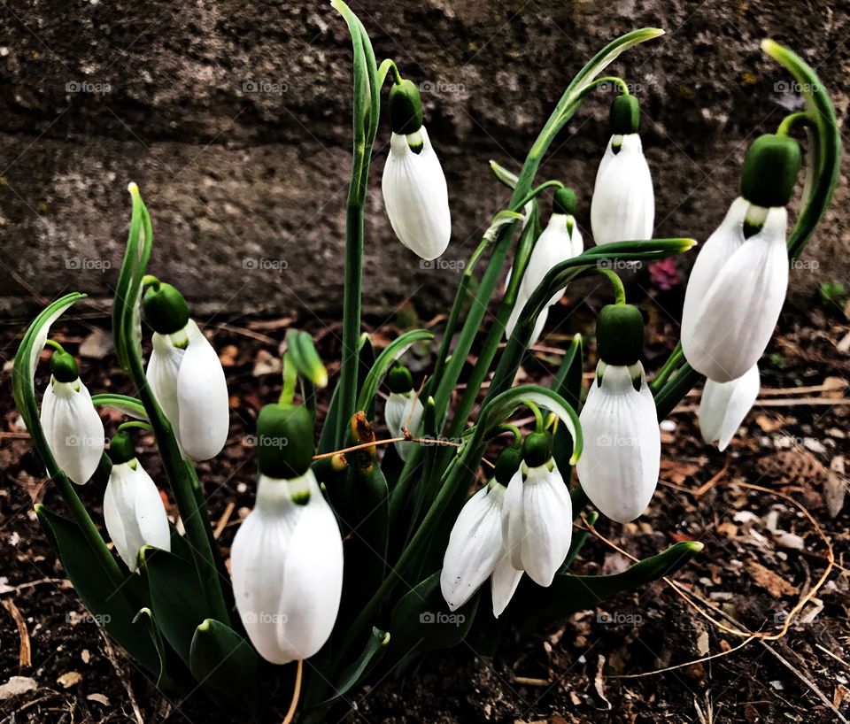
<path id="1" fill-rule="evenodd" d="M 189 458 L 218 455 L 228 440 L 228 385 L 219 356 L 194 320 L 174 335 L 154 332 L 147 377 Z"/>

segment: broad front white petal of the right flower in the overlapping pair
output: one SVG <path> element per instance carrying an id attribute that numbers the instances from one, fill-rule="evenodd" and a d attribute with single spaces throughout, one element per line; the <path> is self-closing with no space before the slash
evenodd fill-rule
<path id="1" fill-rule="evenodd" d="M 558 467 L 529 469 L 522 489 L 525 535 L 522 569 L 532 581 L 549 586 L 567 558 L 572 538 L 572 502 Z"/>

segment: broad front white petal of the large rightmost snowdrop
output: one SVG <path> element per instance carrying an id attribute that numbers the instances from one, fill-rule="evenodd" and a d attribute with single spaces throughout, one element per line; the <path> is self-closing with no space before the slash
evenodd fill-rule
<path id="1" fill-rule="evenodd" d="M 735 250 L 689 320 L 684 356 L 710 380 L 746 374 L 767 347 L 788 288 L 787 213 L 773 208 L 761 231 Z"/>

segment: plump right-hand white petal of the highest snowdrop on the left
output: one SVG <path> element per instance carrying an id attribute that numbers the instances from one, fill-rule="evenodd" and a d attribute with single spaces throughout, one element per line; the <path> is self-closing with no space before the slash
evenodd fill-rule
<path id="1" fill-rule="evenodd" d="M 218 354 L 193 320 L 186 333 L 189 344 L 177 375 L 180 443 L 190 458 L 206 460 L 228 441 L 228 384 Z"/>

